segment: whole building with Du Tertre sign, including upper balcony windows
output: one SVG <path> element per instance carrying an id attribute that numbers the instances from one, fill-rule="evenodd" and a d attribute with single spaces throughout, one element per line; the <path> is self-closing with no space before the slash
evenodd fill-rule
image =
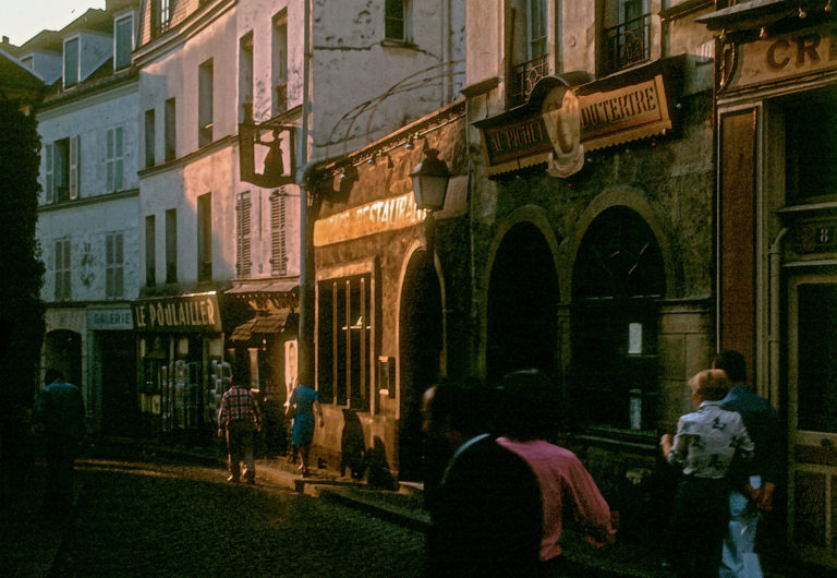
<path id="1" fill-rule="evenodd" d="M 551 376 L 634 539 L 665 527 L 642 492 L 715 349 L 709 9 L 468 2 L 471 371 Z"/>

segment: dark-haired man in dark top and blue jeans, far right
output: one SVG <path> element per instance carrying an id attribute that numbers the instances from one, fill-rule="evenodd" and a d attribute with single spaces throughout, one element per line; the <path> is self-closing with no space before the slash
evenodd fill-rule
<path id="1" fill-rule="evenodd" d="M 754 552 L 755 531 L 761 513 L 773 509 L 773 495 L 781 472 L 779 418 L 769 401 L 747 385 L 747 361 L 738 351 L 719 352 L 712 363 L 723 370 L 731 388 L 720 407 L 737 411 L 755 444 L 754 475 L 733 467 L 730 472 L 729 527 L 724 539 L 720 577 L 761 578 L 762 567 Z"/>

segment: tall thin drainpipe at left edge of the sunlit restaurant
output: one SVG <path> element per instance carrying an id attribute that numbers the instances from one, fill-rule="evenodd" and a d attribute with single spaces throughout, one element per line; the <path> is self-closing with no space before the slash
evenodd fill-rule
<path id="1" fill-rule="evenodd" d="M 310 332 L 313 321 L 311 301 L 311 264 L 308 262 L 308 190 L 307 190 L 307 166 L 308 166 L 308 116 L 311 115 L 311 0 L 303 3 L 304 31 L 303 31 L 303 55 L 302 55 L 302 146 L 301 165 L 306 168 L 302 171 L 300 182 L 300 327 L 298 354 L 300 357 L 298 371 L 305 375 L 311 382 L 307 385 L 314 386 L 314 332 Z"/>

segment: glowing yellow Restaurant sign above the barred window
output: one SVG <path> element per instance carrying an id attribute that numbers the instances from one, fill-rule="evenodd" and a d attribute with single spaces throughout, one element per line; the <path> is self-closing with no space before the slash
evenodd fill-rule
<path id="1" fill-rule="evenodd" d="M 426 215 L 426 210 L 415 206 L 413 193 L 375 201 L 319 219 L 314 224 L 314 246 L 412 227 L 422 222 Z"/>

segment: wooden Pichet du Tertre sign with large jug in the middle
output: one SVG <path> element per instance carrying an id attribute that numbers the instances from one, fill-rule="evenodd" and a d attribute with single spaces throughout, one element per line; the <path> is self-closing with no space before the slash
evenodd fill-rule
<path id="1" fill-rule="evenodd" d="M 585 150 L 671 129 L 663 74 L 611 91 L 598 86 L 570 88 L 554 80 L 539 93 L 535 87 L 520 109 L 476 122 L 488 174 L 546 164 L 550 176 L 569 177 L 582 168 Z"/>

